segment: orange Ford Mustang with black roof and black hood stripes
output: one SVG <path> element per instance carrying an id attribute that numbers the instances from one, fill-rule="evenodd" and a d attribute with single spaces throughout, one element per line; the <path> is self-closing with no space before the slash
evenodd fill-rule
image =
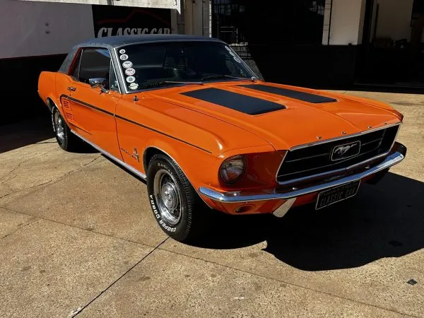
<path id="1" fill-rule="evenodd" d="M 146 179 L 160 228 L 180 241 L 211 208 L 282 217 L 348 199 L 406 155 L 389 105 L 266 83 L 211 38 L 91 40 L 42 72 L 38 92 L 59 146 L 85 141 Z"/>

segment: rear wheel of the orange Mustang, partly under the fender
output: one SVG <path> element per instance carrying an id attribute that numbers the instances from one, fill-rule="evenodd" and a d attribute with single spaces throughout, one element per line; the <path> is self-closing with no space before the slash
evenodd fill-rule
<path id="1" fill-rule="evenodd" d="M 52 110 L 52 126 L 57 143 L 64 151 L 77 151 L 84 145 L 81 139 L 71 133 L 57 107 Z"/>

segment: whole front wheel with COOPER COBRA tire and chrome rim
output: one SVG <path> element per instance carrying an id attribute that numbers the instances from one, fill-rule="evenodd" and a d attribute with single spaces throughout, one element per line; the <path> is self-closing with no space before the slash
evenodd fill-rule
<path id="1" fill-rule="evenodd" d="M 206 230 L 211 210 L 172 159 L 153 155 L 148 165 L 147 189 L 155 219 L 167 235 L 187 242 Z"/>

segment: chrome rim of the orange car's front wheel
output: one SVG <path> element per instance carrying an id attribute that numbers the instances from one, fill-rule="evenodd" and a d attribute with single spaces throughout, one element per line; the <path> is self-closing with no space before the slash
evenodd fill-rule
<path id="1" fill-rule="evenodd" d="M 170 225 L 176 225 L 181 220 L 184 207 L 175 177 L 165 169 L 156 172 L 153 181 L 153 194 L 160 216 Z"/>

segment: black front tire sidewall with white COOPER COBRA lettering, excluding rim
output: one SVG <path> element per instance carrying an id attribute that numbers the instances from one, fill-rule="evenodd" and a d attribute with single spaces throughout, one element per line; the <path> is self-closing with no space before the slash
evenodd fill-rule
<path id="1" fill-rule="evenodd" d="M 158 210 L 158 203 L 153 191 L 153 184 L 155 175 L 159 170 L 166 170 L 167 172 L 175 178 L 177 182 L 176 186 L 179 188 L 179 194 L 181 195 L 181 204 L 184 206 L 184 212 L 176 225 L 172 225 L 167 223 L 167 220 L 160 215 L 160 211 Z M 187 194 L 185 192 L 184 187 L 182 186 L 181 179 L 177 174 L 177 171 L 173 167 L 173 164 L 163 155 L 158 155 L 153 157 L 150 165 L 148 166 L 147 173 L 147 191 L 148 191 L 148 200 L 151 205 L 151 209 L 153 211 L 153 215 L 155 216 L 156 222 L 158 222 L 160 228 L 167 233 L 170 237 L 174 237 L 177 239 L 183 238 L 187 235 L 189 231 L 189 204 L 187 204 Z"/>

